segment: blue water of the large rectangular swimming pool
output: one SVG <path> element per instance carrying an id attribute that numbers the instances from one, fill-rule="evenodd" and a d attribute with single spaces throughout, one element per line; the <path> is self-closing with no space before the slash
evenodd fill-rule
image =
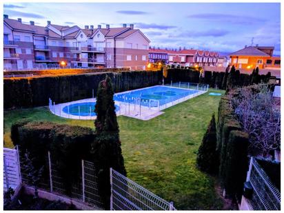
<path id="1" fill-rule="evenodd" d="M 137 103 L 141 99 L 141 105 L 157 107 L 187 97 L 190 94 L 199 92 L 199 90 L 187 90 L 181 88 L 170 88 L 166 86 L 154 86 L 152 88 L 145 88 L 141 90 L 133 90 L 123 94 L 115 94 L 115 101 L 122 101 L 126 103 Z"/>

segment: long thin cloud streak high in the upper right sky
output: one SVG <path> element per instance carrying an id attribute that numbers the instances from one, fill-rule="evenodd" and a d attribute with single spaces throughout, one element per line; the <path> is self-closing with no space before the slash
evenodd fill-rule
<path id="1" fill-rule="evenodd" d="M 230 22 L 238 24 L 252 24 L 252 23 L 261 23 L 266 21 L 266 19 L 256 18 L 256 17 L 247 17 L 247 16 L 237 16 L 234 14 L 221 14 L 221 13 L 201 13 L 201 14 L 191 14 L 187 18 L 190 19 L 203 19 L 205 21 L 221 21 L 221 22 Z"/>

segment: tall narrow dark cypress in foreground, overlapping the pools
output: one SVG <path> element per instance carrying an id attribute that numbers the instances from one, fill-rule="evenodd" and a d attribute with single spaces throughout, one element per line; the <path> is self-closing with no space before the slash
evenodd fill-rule
<path id="1" fill-rule="evenodd" d="M 94 109 L 97 114 L 94 121 L 96 139 L 91 150 L 99 170 L 99 193 L 105 210 L 110 209 L 110 168 L 126 175 L 113 95 L 112 82 L 107 76 L 99 83 L 97 92 L 97 104 Z"/>

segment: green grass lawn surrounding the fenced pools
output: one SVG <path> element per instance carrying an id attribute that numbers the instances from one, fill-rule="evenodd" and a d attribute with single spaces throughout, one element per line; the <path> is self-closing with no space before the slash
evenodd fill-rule
<path id="1" fill-rule="evenodd" d="M 210 90 L 221 92 L 223 90 Z M 203 94 L 163 110 L 150 121 L 119 116 L 122 151 L 128 177 L 179 210 L 222 209 L 215 179 L 196 168 L 196 152 L 220 96 Z M 11 148 L 10 127 L 22 118 L 94 128 L 94 121 L 63 119 L 46 107 L 4 112 L 4 145 Z"/>

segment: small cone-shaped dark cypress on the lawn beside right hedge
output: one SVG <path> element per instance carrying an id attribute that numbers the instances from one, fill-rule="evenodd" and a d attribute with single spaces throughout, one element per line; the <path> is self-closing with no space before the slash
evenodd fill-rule
<path id="1" fill-rule="evenodd" d="M 212 114 L 212 119 L 203 136 L 196 159 L 198 167 L 210 174 L 216 174 L 219 168 L 219 155 L 216 151 L 216 144 L 216 122 L 215 116 Z"/>

